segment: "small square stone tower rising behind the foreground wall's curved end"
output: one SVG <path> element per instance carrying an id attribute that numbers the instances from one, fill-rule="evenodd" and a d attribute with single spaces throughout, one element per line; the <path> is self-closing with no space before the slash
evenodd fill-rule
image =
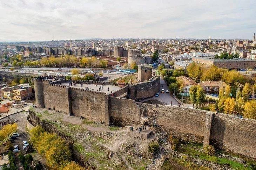
<path id="1" fill-rule="evenodd" d="M 138 65 L 138 82 L 144 82 L 152 77 L 152 66 L 148 64 Z"/>

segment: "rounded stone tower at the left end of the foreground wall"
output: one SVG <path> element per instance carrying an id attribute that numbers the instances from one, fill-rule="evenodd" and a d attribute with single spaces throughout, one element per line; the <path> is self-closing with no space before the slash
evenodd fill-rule
<path id="1" fill-rule="evenodd" d="M 38 108 L 45 108 L 45 101 L 43 99 L 43 80 L 39 78 L 34 79 L 35 88 L 35 105 Z"/>

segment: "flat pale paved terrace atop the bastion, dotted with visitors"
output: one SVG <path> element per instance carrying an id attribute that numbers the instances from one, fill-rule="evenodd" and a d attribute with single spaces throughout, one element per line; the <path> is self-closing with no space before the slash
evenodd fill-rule
<path id="1" fill-rule="evenodd" d="M 66 85 L 66 87 L 68 87 L 68 82 L 66 83 L 61 83 L 61 85 Z M 86 87 L 88 87 L 88 90 L 94 90 L 94 91 L 99 91 L 99 92 L 104 92 L 104 93 L 107 93 L 107 94 L 111 94 L 111 91 L 112 93 L 119 90 L 121 87 L 118 87 L 118 86 L 112 86 L 112 85 L 97 85 L 96 84 L 85 84 L 83 83 L 82 84 L 83 86 L 81 86 L 81 84 L 76 84 L 75 88 L 81 88 L 81 89 L 86 89 Z M 100 87 L 103 86 L 103 90 L 100 90 Z M 74 87 L 73 84 L 72 86 L 70 87 Z M 109 87 L 109 90 L 108 90 L 108 87 Z"/>

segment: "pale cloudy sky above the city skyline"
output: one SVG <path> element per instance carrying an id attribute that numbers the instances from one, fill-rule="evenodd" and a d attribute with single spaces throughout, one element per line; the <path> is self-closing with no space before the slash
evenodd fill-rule
<path id="1" fill-rule="evenodd" d="M 0 0 L 0 41 L 252 39 L 256 0 Z"/>

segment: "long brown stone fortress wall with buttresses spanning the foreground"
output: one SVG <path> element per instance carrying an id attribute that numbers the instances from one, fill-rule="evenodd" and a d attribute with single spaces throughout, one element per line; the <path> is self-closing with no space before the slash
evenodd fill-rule
<path id="1" fill-rule="evenodd" d="M 107 126 L 156 126 L 182 140 L 213 144 L 226 151 L 256 158 L 256 120 L 136 102 L 136 99 L 151 97 L 159 91 L 159 77 L 127 85 L 109 95 L 62 86 L 59 84 L 66 80 L 65 77 L 60 79 L 55 82 L 45 78 L 34 79 L 36 107 L 55 109 L 70 116 L 83 116 Z M 117 85 L 92 80 L 84 83 Z"/>

